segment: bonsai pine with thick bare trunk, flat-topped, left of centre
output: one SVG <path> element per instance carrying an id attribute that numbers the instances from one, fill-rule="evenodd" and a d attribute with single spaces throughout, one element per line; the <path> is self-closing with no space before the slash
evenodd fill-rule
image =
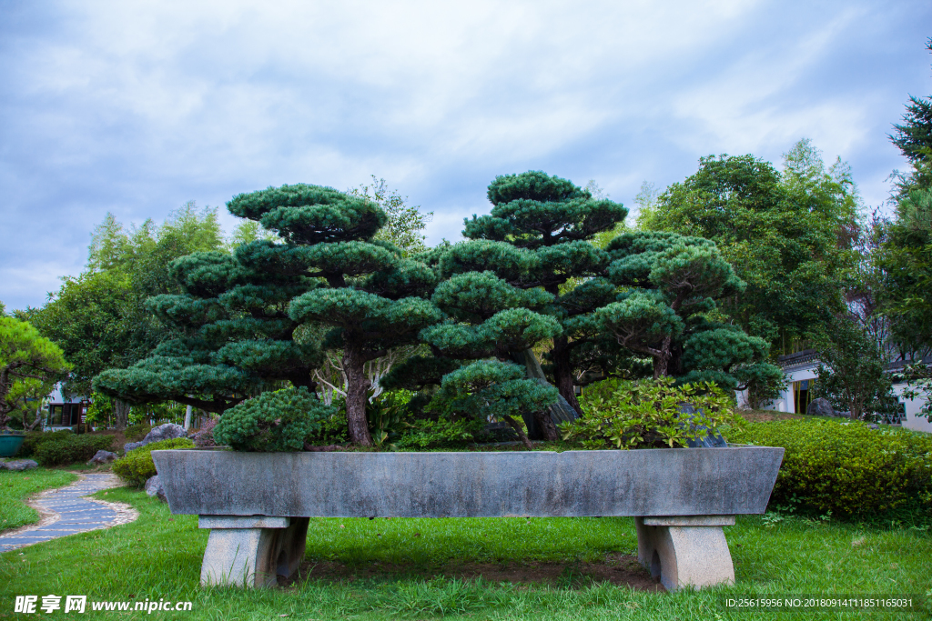
<path id="1" fill-rule="evenodd" d="M 364 196 L 283 185 L 235 196 L 227 208 L 275 231 L 285 243 L 267 244 L 269 259 L 287 264 L 292 277 L 315 283 L 291 291 L 287 317 L 292 325 L 331 328 L 322 346 L 342 351 L 349 439 L 372 445 L 364 365 L 392 347 L 417 343 L 418 332 L 442 318 L 425 299 L 436 282 L 432 269 L 374 239 L 386 214 Z"/>

